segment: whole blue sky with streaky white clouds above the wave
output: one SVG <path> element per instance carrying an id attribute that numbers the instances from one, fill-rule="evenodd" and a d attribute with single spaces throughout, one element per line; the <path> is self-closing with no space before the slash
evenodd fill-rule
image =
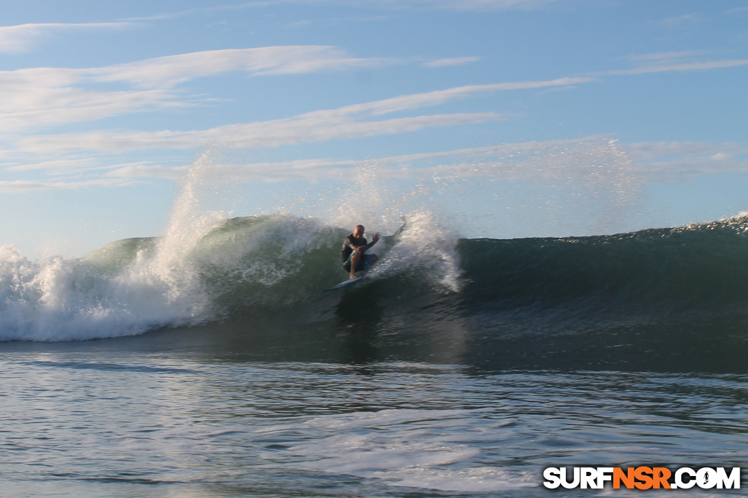
<path id="1" fill-rule="evenodd" d="M 230 215 L 421 202 L 470 237 L 748 211 L 745 0 L 2 4 L 0 245 L 28 256 L 164 233 L 201 161 Z"/>

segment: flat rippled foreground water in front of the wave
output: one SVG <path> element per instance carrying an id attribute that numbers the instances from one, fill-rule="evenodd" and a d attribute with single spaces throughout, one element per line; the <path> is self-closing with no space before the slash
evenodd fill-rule
<path id="1" fill-rule="evenodd" d="M 356 340 L 340 339 L 340 351 Z M 745 375 L 227 359 L 0 354 L 5 489 L 535 497 L 547 493 L 548 466 L 738 467 L 748 457 Z"/>

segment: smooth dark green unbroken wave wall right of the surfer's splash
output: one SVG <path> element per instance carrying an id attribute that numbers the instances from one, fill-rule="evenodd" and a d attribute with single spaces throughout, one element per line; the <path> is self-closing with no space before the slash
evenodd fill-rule
<path id="1" fill-rule="evenodd" d="M 465 240 L 473 363 L 746 372 L 748 218 L 613 236 Z"/>

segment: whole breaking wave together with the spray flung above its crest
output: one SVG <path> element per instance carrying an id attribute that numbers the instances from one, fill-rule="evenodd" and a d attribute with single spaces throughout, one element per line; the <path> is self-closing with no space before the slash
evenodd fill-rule
<path id="1" fill-rule="evenodd" d="M 494 151 L 505 152 L 517 151 Z M 610 154 L 614 144 L 579 145 L 544 174 L 577 168 L 593 186 L 618 181 L 624 195 L 625 157 L 617 173 L 595 167 Z M 514 160 L 498 171 L 522 176 L 526 165 L 553 162 L 538 152 Z M 0 339 L 93 339 L 239 317 L 248 330 L 279 316 L 356 325 L 357 313 L 387 334 L 465 337 L 604 333 L 681 316 L 709 322 L 714 313 L 737 313 L 742 323 L 745 217 L 616 236 L 461 239 L 440 195 L 464 193 L 456 171 L 473 168 L 483 182 L 497 165 L 460 162 L 449 174 L 436 165 L 405 183 L 410 173 L 390 178 L 383 167 L 351 170 L 318 200 L 305 200 L 308 212 L 230 218 L 206 206 L 236 177 L 206 153 L 180 183 L 161 237 L 113 242 L 82 259 L 31 261 L 0 250 Z M 384 236 L 373 248 L 381 261 L 370 283 L 323 294 L 346 277 L 340 245 L 358 223 L 369 238 Z"/>

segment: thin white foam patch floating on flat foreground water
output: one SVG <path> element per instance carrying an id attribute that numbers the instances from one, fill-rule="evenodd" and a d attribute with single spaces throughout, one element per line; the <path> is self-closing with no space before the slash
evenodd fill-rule
<path id="1" fill-rule="evenodd" d="M 480 462 L 475 416 L 467 410 L 383 410 L 319 416 L 260 432 L 272 433 L 278 439 L 315 434 L 285 444 L 289 446 L 286 452 L 303 458 L 298 467 L 316 472 L 345 473 L 381 479 L 389 485 L 440 491 L 536 487 L 534 469 L 506 470 Z M 501 439 L 496 431 L 510 423 L 492 421 L 493 437 L 488 440 Z M 278 453 L 269 453 L 266 458 L 279 457 Z"/>

